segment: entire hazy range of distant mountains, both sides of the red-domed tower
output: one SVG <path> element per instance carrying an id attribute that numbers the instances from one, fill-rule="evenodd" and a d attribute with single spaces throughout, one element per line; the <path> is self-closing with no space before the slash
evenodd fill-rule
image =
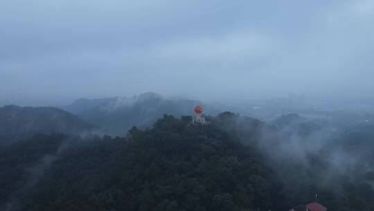
<path id="1" fill-rule="evenodd" d="M 160 94 L 146 92 L 132 97 L 112 97 L 104 99 L 78 99 L 62 108 L 19 107 L 8 105 L 0 108 L 0 143 L 24 140 L 37 133 L 95 133 L 103 135 L 124 135 L 127 130 L 152 127 L 163 115 L 194 115 L 195 105 L 202 105 L 205 115 L 215 116 L 231 110 L 240 112 L 220 103 L 204 103 L 184 98 L 166 98 Z M 243 111 L 244 110 L 244 111 Z M 251 110 L 248 107 L 247 110 Z M 241 109 L 245 113 L 245 108 Z M 243 114 L 243 112 L 241 112 Z M 247 112 L 246 115 L 248 115 Z M 251 116 L 251 115 L 250 115 Z M 346 117 L 347 115 L 342 115 Z M 252 116 L 251 116 L 252 117 Z M 348 118 L 348 116 L 347 116 Z M 341 123 L 336 118 L 313 120 L 299 115 L 283 115 L 271 125 L 288 135 L 310 135 L 321 130 L 336 130 Z M 356 118 L 357 119 L 357 118 Z M 362 118 L 361 118 L 362 119 Z M 342 120 L 343 121 L 343 120 Z M 355 126 L 354 118 L 344 119 Z M 370 123 L 370 121 L 368 122 Z"/>

